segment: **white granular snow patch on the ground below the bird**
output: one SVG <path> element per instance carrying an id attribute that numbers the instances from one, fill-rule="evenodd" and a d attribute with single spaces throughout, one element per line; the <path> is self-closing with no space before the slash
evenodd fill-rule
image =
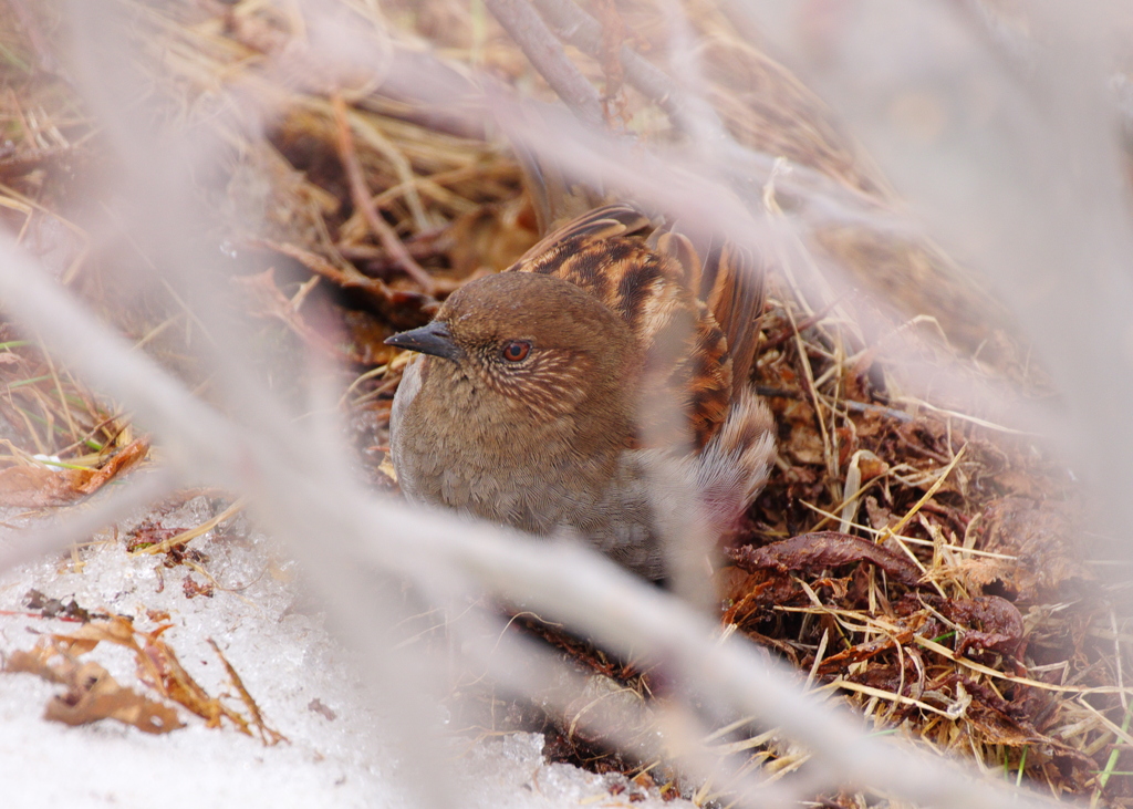
<path id="1" fill-rule="evenodd" d="M 205 497 L 161 516 L 165 527 L 190 528 L 212 517 Z M 119 526 L 135 526 L 142 517 Z M 242 519 L 242 518 L 238 518 Z M 10 522 L 9 522 L 10 525 Z M 43 718 L 61 685 L 23 673 L 0 673 L 0 806 L 23 807 L 410 807 L 394 777 L 394 744 L 367 702 L 363 672 L 352 655 L 322 627 L 317 614 L 297 608 L 297 588 L 286 561 L 255 531 L 213 533 L 195 539 L 216 577 L 213 597 L 187 598 L 186 565 L 167 568 L 161 556 L 130 556 L 119 536 L 70 555 L 24 565 L 0 577 L 0 653 L 31 649 L 41 633 L 74 632 L 79 624 L 29 611 L 37 589 L 63 603 L 129 615 L 144 631 L 150 615 L 169 613 L 162 638 L 211 696 L 231 695 L 244 712 L 212 638 L 239 673 L 266 723 L 290 743 L 263 746 L 225 724 L 220 730 L 178 708 L 186 727 L 163 735 L 112 719 L 70 727 Z M 0 547 L 3 546 L 0 538 Z M 33 614 L 28 614 L 33 613 Z M 160 616 L 159 616 L 160 618 Z M 133 655 L 102 642 L 85 659 L 103 665 L 118 682 L 154 697 L 137 679 Z M 315 701 L 317 700 L 317 702 Z M 331 718 L 333 715 L 333 718 Z M 548 765 L 543 738 L 512 734 L 470 743 L 453 740 L 454 761 L 438 763 L 458 782 L 458 804 L 539 809 L 555 807 L 691 807 L 664 802 L 622 776 L 597 776 Z M 463 753 L 463 755 L 461 755 Z M 633 801 L 630 801 L 630 797 Z M 644 800 L 642 800 L 644 799 Z M 431 809 L 431 808 L 429 808 Z"/>

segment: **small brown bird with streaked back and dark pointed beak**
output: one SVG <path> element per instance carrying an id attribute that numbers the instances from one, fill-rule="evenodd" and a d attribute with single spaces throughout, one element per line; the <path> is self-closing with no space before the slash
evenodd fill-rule
<path id="1" fill-rule="evenodd" d="M 734 246 L 701 262 L 630 205 L 580 216 L 386 340 L 421 355 L 390 419 L 401 489 L 573 531 L 665 577 L 674 502 L 718 537 L 763 486 L 773 421 L 749 386 L 761 308 L 761 278 Z"/>

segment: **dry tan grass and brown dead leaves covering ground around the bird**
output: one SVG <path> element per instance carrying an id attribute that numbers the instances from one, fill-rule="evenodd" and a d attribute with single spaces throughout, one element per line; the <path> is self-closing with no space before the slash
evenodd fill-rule
<path id="1" fill-rule="evenodd" d="M 688 5 L 708 95 L 739 142 L 888 204 L 884 178 L 816 97 L 744 41 L 715 5 Z M 223 171 L 202 178 L 197 190 L 224 214 L 218 239 L 257 257 L 261 272 L 241 275 L 232 308 L 259 318 L 267 375 L 284 388 L 279 368 L 300 346 L 349 367 L 356 377 L 342 382 L 340 408 L 363 468 L 389 485 L 377 468 L 402 360 L 382 340 L 424 323 L 437 298 L 505 267 L 534 242 L 536 214 L 517 161 L 495 135 L 365 84 L 335 90 L 318 76 L 286 83 L 259 73 L 264 53 L 300 33 L 296 19 L 262 3 L 122 6 L 136 15 L 136 35 L 152 57 L 152 92 L 170 121 L 212 126 L 235 86 L 283 110 L 261 139 L 222 131 L 230 146 Z M 625 3 L 621 17 L 610 3 L 597 6 L 607 26 L 620 19 L 633 32 L 638 50 L 664 52 L 656 5 Z M 403 42 L 432 43 L 458 70 L 487 69 L 527 94 L 552 97 L 478 3 L 391 2 L 377 11 L 359 2 L 355 10 L 392 26 Z M 66 84 L 31 70 L 42 58 L 33 43 L 50 42 L 59 24 L 50 6 L 31 19 L 34 34 L 9 29 L 0 37 L 0 113 L 12 144 L 0 157 L 0 214 L 139 348 L 207 389 L 207 369 L 189 358 L 194 342 L 207 339 L 191 308 L 156 281 L 127 291 L 116 272 L 123 256 L 144 267 L 144 248 L 92 244 L 100 218 L 114 216 L 113 199 L 91 196 L 92 178 L 113 161 L 100 152 L 97 129 Z M 608 91 L 612 124 L 646 143 L 681 137 L 610 61 L 571 56 Z M 774 194 L 768 199 L 759 213 L 772 221 L 784 215 Z M 363 201 L 373 205 L 368 213 Z M 996 424 L 998 414 L 974 408 L 974 398 L 910 395 L 908 368 L 880 359 L 883 344 L 901 342 L 920 367 L 959 368 L 973 384 L 1015 383 L 1021 398 L 1045 395 L 1026 346 L 929 241 L 844 222 L 810 236 L 775 256 L 756 383 L 777 417 L 778 462 L 735 544 L 774 547 L 834 530 L 888 556 L 832 556 L 823 537 L 792 546 L 776 567 L 736 555 L 736 565 L 717 576 L 724 631 L 774 649 L 816 692 L 841 695 L 878 732 L 970 757 L 1055 795 L 1128 803 L 1133 790 L 1119 755 L 1133 743 L 1124 681 L 1128 616 L 1117 607 L 1116 586 L 1097 574 L 1104 562 L 1085 559 L 1082 493 L 1036 436 Z M 818 273 L 830 263 L 845 271 L 844 288 Z M 878 325 L 879 307 L 896 327 Z M 6 331 L 0 339 L 8 450 L 0 462 L 27 465 L 42 454 L 102 466 L 130 443 L 128 418 L 56 367 L 34 335 Z M 910 564 L 915 581 L 894 572 Z M 650 673 L 607 661 L 585 642 L 534 622 L 527 631 L 554 636 L 583 670 L 637 695 L 656 688 Z M 543 721 L 529 706 L 509 712 L 517 724 Z M 600 739 L 580 735 L 574 718 L 546 721 L 559 731 L 561 756 L 597 767 L 656 764 L 617 759 Z M 751 768 L 770 777 L 807 760 L 774 732 L 746 723 L 722 727 L 712 741 L 721 752 L 750 751 Z M 698 798 L 724 798 L 727 790 L 706 784 Z M 863 806 L 860 795 L 830 801 Z"/>

